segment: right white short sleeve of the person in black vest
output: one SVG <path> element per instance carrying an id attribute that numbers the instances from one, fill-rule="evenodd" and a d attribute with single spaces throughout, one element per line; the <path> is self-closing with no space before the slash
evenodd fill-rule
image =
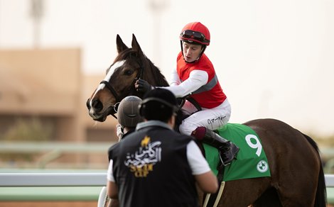
<path id="1" fill-rule="evenodd" d="M 187 159 L 193 174 L 203 174 L 211 170 L 202 152 L 200 152 L 200 148 L 193 140 L 187 145 Z"/>

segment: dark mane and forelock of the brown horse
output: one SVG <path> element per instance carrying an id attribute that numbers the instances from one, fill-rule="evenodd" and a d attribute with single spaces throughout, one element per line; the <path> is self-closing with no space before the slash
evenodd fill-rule
<path id="1" fill-rule="evenodd" d="M 153 86 L 168 86 L 168 82 L 161 73 L 160 69 L 156 67 L 156 65 L 154 65 L 153 62 L 146 57 L 146 55 L 139 57 L 138 53 L 132 50 L 132 48 L 119 52 L 119 55 L 117 55 L 114 62 L 126 60 L 131 57 L 135 57 L 136 61 L 139 65 L 141 65 L 141 68 L 143 69 L 142 79 L 150 82 Z"/>

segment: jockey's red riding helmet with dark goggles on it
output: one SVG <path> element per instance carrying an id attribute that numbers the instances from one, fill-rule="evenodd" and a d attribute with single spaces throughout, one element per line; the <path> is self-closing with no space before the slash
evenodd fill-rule
<path id="1" fill-rule="evenodd" d="M 188 23 L 181 31 L 180 40 L 208 46 L 210 45 L 210 32 L 208 28 L 200 22 Z"/>

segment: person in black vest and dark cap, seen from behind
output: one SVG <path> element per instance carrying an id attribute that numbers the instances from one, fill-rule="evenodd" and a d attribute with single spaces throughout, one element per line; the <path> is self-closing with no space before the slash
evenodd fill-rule
<path id="1" fill-rule="evenodd" d="M 149 91 L 139 105 L 144 122 L 109 148 L 107 194 L 120 206 L 199 206 L 196 183 L 217 191 L 195 140 L 173 130 L 177 110 L 171 91 Z"/>

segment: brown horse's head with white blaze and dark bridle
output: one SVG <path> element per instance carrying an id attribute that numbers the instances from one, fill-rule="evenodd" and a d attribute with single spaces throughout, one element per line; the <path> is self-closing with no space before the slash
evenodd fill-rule
<path id="1" fill-rule="evenodd" d="M 131 48 L 123 43 L 119 35 L 116 39 L 118 55 L 107 69 L 106 77 L 87 100 L 89 114 L 95 121 L 105 121 L 108 115 L 114 116 L 124 97 L 142 97 L 143 94 L 134 89 L 137 79 L 145 79 L 153 86 L 167 85 L 160 70 L 144 55 L 134 35 Z"/>

